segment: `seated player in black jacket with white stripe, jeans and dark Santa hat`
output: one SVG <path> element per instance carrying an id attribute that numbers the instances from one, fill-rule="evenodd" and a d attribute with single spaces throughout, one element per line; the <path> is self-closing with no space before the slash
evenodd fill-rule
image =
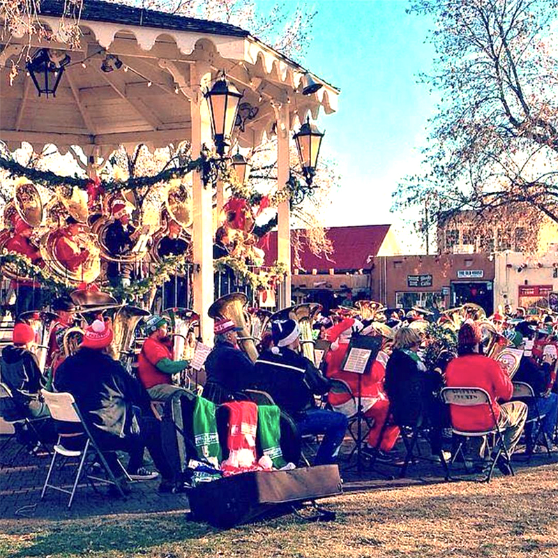
<path id="1" fill-rule="evenodd" d="M 300 354 L 298 324 L 292 319 L 278 320 L 271 331 L 275 347 L 257 359 L 255 387 L 269 393 L 292 416 L 301 435 L 324 434 L 315 465 L 333 463 L 345 437 L 347 417 L 316 407 L 314 395 L 327 393 L 330 382 Z"/>

